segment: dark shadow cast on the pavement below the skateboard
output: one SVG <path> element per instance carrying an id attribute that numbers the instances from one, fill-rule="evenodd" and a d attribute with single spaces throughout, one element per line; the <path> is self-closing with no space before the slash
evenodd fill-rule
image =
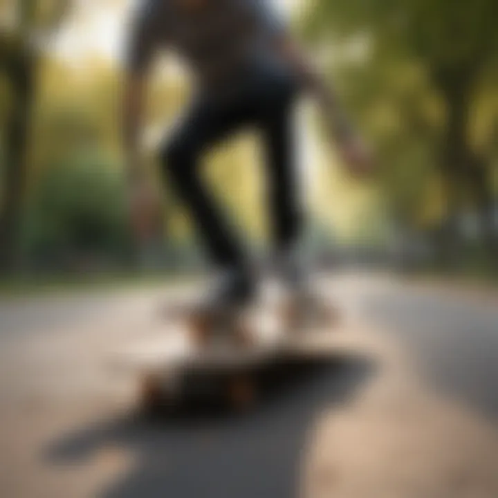
<path id="1" fill-rule="evenodd" d="M 104 498 L 291 498 L 313 423 L 324 409 L 349 403 L 374 372 L 369 358 L 344 354 L 295 364 L 243 414 L 219 407 L 154 418 L 127 413 L 64 436 L 44 458 L 77 465 L 105 448 L 131 452 L 132 470 Z"/>

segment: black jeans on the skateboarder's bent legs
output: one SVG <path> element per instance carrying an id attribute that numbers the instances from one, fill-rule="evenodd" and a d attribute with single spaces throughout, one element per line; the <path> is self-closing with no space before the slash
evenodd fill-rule
<path id="1" fill-rule="evenodd" d="M 291 244 L 299 232 L 300 209 L 293 165 L 293 77 L 276 66 L 241 75 L 239 84 L 217 97 L 194 100 L 190 111 L 162 150 L 163 168 L 192 213 L 215 264 L 243 264 L 243 247 L 199 177 L 206 149 L 247 125 L 261 132 L 266 151 L 268 208 L 277 248 Z M 226 185 L 234 189 L 237 185 Z"/>

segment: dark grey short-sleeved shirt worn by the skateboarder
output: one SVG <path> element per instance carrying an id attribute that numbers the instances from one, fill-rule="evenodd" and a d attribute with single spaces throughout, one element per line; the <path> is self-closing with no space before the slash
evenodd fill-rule
<path id="1" fill-rule="evenodd" d="M 285 26 L 271 0 L 139 0 L 127 68 L 142 73 L 158 49 L 170 48 L 204 89 L 221 89 L 252 62 L 272 57 Z"/>

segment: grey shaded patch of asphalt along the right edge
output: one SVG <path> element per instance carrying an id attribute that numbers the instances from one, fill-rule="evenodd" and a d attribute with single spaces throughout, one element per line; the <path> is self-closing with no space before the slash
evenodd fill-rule
<path id="1" fill-rule="evenodd" d="M 498 293 L 393 280 L 365 283 L 358 300 L 362 317 L 402 344 L 426 382 L 498 417 Z"/>

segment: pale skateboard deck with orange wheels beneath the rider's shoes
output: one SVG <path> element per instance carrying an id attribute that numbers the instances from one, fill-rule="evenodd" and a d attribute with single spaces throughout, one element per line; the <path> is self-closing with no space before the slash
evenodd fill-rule
<path id="1" fill-rule="evenodd" d="M 115 365 L 138 378 L 142 408 L 173 407 L 193 398 L 216 398 L 246 408 L 257 400 L 262 371 L 285 360 L 326 354 L 331 324 L 291 330 L 278 301 L 268 298 L 240 317 L 250 332 L 250 344 L 237 346 L 221 339 L 208 348 L 196 347 L 185 317 L 189 304 L 170 307 L 175 312 L 163 317 L 156 335 L 120 349 L 114 358 Z"/>

